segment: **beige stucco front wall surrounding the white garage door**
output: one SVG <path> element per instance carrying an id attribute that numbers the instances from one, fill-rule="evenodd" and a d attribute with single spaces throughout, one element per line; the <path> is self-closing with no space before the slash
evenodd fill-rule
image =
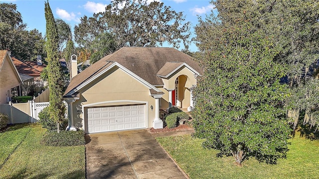
<path id="1" fill-rule="evenodd" d="M 89 106 L 110 106 L 125 104 L 146 104 L 147 127 L 153 127 L 155 109 L 155 98 L 150 95 L 150 89 L 138 82 L 135 78 L 123 70 L 114 67 L 108 73 L 102 75 L 86 88 L 81 89 L 80 99 L 73 103 L 74 122 L 82 127 L 87 116 L 83 116 L 82 106 L 85 114 Z M 110 101 L 113 101 L 110 103 Z"/>

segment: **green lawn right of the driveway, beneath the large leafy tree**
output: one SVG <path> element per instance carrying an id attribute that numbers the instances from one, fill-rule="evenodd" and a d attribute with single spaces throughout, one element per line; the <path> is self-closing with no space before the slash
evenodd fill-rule
<path id="1" fill-rule="evenodd" d="M 218 151 L 203 149 L 203 140 L 190 135 L 157 140 L 190 179 L 319 179 L 318 140 L 295 137 L 289 141 L 287 159 L 268 165 L 250 158 L 242 167 L 233 157 L 217 158 Z"/>

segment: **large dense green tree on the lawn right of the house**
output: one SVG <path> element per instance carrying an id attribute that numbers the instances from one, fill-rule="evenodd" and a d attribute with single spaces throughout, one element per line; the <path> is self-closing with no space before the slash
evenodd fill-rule
<path id="1" fill-rule="evenodd" d="M 218 15 L 199 19 L 195 31 L 204 69 L 194 88 L 195 136 L 203 146 L 275 163 L 285 155 L 290 134 L 285 118 L 286 67 L 275 61 L 281 49 L 267 33 L 270 2 L 217 0 Z"/>

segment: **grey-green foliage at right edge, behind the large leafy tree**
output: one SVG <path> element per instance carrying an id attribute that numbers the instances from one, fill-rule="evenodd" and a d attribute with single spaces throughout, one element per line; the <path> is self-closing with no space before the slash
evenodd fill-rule
<path id="1" fill-rule="evenodd" d="M 269 29 L 277 38 L 277 48 L 282 49 L 275 59 L 288 66 L 291 97 L 287 107 L 294 127 L 299 118 L 296 115 L 303 111 L 307 114 L 304 123 L 319 125 L 319 101 L 315 99 L 318 96 L 318 81 L 311 77 L 311 69 L 315 68 L 319 58 L 318 5 L 318 0 L 277 1 L 273 5 L 276 13 L 272 15 L 277 16 L 277 22 L 274 21 Z"/>

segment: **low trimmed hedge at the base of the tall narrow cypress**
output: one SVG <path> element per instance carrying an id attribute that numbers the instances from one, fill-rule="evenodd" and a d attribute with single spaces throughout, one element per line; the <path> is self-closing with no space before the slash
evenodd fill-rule
<path id="1" fill-rule="evenodd" d="M 46 131 L 41 143 L 47 146 L 77 146 L 85 145 L 84 131 Z"/>

